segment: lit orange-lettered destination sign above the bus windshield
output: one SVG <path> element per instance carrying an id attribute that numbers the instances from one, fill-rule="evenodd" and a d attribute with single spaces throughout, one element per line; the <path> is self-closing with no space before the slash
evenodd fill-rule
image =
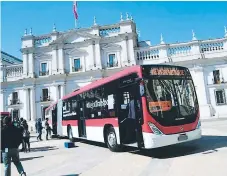
<path id="1" fill-rule="evenodd" d="M 179 68 L 151 68 L 150 74 L 151 75 L 174 75 L 174 76 L 185 76 L 187 73 L 185 73 L 186 70 L 181 70 Z"/>

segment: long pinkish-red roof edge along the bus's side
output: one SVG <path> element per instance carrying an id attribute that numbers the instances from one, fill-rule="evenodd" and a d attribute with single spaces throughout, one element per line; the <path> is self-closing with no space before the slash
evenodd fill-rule
<path id="1" fill-rule="evenodd" d="M 82 87 L 82 88 L 80 88 L 80 89 L 78 89 L 78 90 L 76 90 L 76 91 L 74 91 L 74 92 L 68 94 L 68 95 L 65 95 L 65 96 L 62 98 L 62 100 L 66 100 L 66 99 L 71 98 L 71 97 L 73 97 L 73 96 L 75 96 L 75 95 L 78 95 L 78 94 L 80 94 L 80 93 L 82 93 L 82 92 L 85 92 L 85 91 L 87 91 L 87 90 L 96 88 L 96 87 L 98 87 L 98 86 L 100 86 L 100 85 L 106 84 L 106 83 L 108 83 L 108 82 L 110 82 L 110 81 L 113 81 L 113 80 L 115 80 L 115 79 L 118 79 L 118 78 L 121 78 L 121 77 L 123 77 L 123 76 L 126 76 L 126 75 L 128 75 L 128 74 L 130 74 L 130 73 L 139 72 L 140 68 L 141 68 L 140 65 L 135 65 L 135 66 L 127 67 L 127 68 L 125 68 L 124 70 L 121 70 L 121 71 L 119 71 L 118 73 L 115 73 L 114 75 L 111 75 L 111 76 L 108 76 L 108 77 L 99 79 L 99 80 L 97 80 L 97 81 L 94 81 L 94 82 L 92 82 L 92 83 L 90 83 L 90 84 L 88 84 L 88 85 L 86 85 L 86 86 L 84 86 L 84 87 Z M 45 111 L 51 109 L 51 108 L 52 108 L 54 105 L 56 105 L 56 104 L 57 104 L 57 102 L 54 102 L 54 103 L 51 104 Z"/>

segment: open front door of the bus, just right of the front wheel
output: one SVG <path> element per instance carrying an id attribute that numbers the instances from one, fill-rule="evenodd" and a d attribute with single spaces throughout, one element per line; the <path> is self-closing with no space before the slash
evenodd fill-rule
<path id="1" fill-rule="evenodd" d="M 121 143 L 143 147 L 142 106 L 138 84 L 120 88 L 118 96 Z"/>

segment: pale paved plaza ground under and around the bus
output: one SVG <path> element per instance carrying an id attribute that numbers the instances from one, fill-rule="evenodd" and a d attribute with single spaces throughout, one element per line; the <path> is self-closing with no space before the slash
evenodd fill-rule
<path id="1" fill-rule="evenodd" d="M 33 137 L 31 152 L 20 156 L 28 176 L 226 176 L 227 120 L 203 122 L 202 129 L 202 139 L 195 142 L 122 153 L 86 141 L 66 149 L 65 139 L 37 142 Z"/>

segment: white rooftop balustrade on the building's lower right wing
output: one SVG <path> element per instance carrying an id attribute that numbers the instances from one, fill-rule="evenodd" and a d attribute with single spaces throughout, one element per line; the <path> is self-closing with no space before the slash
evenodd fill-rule
<path id="1" fill-rule="evenodd" d="M 160 44 L 135 48 L 138 65 L 184 62 L 192 60 L 224 58 L 227 56 L 227 38 L 194 40 L 185 43 Z"/>

